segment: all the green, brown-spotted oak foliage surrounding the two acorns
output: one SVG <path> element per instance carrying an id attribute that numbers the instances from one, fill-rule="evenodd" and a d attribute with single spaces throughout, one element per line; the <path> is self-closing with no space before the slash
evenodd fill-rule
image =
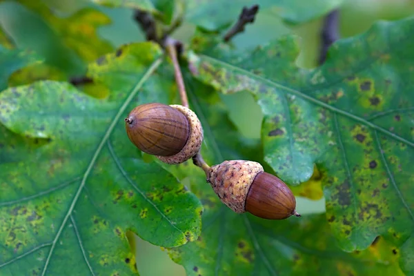
<path id="1" fill-rule="evenodd" d="M 318 51 L 319 23 L 343 2 L 0 2 L 0 275 L 136 275 L 132 233 L 188 275 L 413 274 L 414 18 L 375 23 L 299 68 L 311 50 L 293 30 Z M 224 43 L 255 3 L 255 23 Z M 180 98 L 159 45 L 139 34 L 115 49 L 126 8 L 124 23 L 139 8 L 158 33 L 186 32 L 181 70 L 207 163 L 258 161 L 295 195 L 323 195 L 326 212 L 235 214 L 192 161 L 170 166 L 130 143 L 132 108 Z M 79 76 L 91 81 L 69 83 Z M 256 103 L 228 104 L 246 92 Z"/>

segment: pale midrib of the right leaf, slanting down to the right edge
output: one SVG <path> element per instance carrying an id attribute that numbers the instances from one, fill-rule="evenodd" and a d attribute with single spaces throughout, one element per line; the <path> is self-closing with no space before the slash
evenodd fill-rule
<path id="1" fill-rule="evenodd" d="M 224 68 L 228 68 L 230 70 L 239 72 L 242 75 L 246 75 L 250 77 L 251 79 L 255 79 L 257 81 L 262 81 L 263 83 L 268 84 L 269 86 L 273 86 L 274 88 L 279 88 L 282 90 L 285 90 L 286 92 L 295 95 L 297 97 L 301 97 L 302 99 L 305 99 L 307 101 L 310 101 L 311 103 L 314 103 L 317 106 L 320 106 L 322 108 L 326 108 L 327 110 L 331 110 L 332 112 L 335 112 L 337 114 L 343 115 L 344 117 L 347 117 L 349 119 L 353 119 L 354 121 L 358 121 L 359 123 L 362 123 L 370 128 L 373 128 L 375 130 L 378 130 L 379 132 L 384 133 L 385 135 L 392 137 L 393 139 L 400 141 L 408 146 L 411 146 L 411 148 L 414 148 L 414 142 L 408 141 L 407 139 L 400 137 L 400 135 L 395 135 L 393 132 L 390 132 L 380 126 L 377 126 L 377 124 L 373 124 L 371 121 L 368 121 L 366 119 L 363 119 L 361 117 L 358 117 L 357 115 L 353 115 L 350 112 L 346 112 L 345 110 L 336 108 L 335 106 L 330 106 L 328 103 L 324 103 L 323 101 L 319 101 L 319 99 L 315 99 L 309 95 L 304 94 L 303 92 L 300 92 L 299 90 L 295 90 L 293 88 L 288 88 L 280 83 L 276 83 L 275 81 L 270 81 L 268 79 L 265 79 L 264 77 L 257 76 L 251 72 L 248 72 L 247 70 L 243 68 L 239 68 L 237 66 L 233 66 L 230 63 L 220 61 L 219 59 L 215 59 L 213 57 L 208 57 L 206 55 L 199 55 L 199 57 L 202 57 L 203 59 L 213 61 L 214 63 L 218 63 L 219 65 L 223 66 Z"/>

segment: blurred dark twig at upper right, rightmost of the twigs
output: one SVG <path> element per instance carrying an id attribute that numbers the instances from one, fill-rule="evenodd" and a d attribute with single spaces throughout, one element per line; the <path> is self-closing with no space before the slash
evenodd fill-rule
<path id="1" fill-rule="evenodd" d="M 339 11 L 333 10 L 326 15 L 324 19 L 324 26 L 322 27 L 321 39 L 322 45 L 319 53 L 319 64 L 325 62 L 328 48 L 339 39 L 338 31 Z"/>

